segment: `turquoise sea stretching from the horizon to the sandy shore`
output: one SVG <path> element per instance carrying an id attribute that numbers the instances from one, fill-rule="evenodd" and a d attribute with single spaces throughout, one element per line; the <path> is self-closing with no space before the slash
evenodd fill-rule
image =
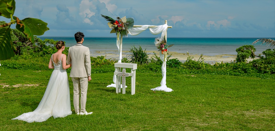
<path id="1" fill-rule="evenodd" d="M 62 40 L 66 42 L 66 47 L 76 44 L 74 37 L 39 37 L 44 39 Z M 125 37 L 123 38 L 122 50 L 128 51 L 133 45 L 141 46 L 143 50 L 157 51 L 154 45 L 155 38 Z M 203 54 L 214 56 L 219 54 L 236 55 L 236 49 L 242 45 L 251 45 L 255 40 L 260 38 L 167 38 L 167 44 L 174 46 L 169 47 L 168 51 L 190 54 Z M 268 38 L 269 39 L 269 38 Z M 271 38 L 275 39 L 275 38 Z M 97 51 L 117 51 L 116 37 L 84 37 L 84 46 L 90 48 L 91 52 Z M 274 47 L 261 45 L 257 43 L 255 54 L 261 54 L 266 49 Z"/>

